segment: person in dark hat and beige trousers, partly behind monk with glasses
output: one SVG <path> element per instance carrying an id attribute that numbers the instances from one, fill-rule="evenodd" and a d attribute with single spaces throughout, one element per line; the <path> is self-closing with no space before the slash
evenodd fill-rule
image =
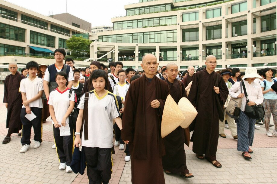
<path id="1" fill-rule="evenodd" d="M 224 69 L 224 70 L 221 71 L 220 75 L 222 76 L 223 80 L 225 81 L 225 84 L 227 85 L 228 89 L 230 89 L 232 87 L 232 83 L 229 82 L 228 79 L 233 74 L 229 70 Z M 224 119 L 226 118 L 229 129 L 231 131 L 231 135 L 234 137 L 234 139 L 237 139 L 237 125 L 236 125 L 236 122 L 235 122 L 234 118 L 231 118 L 230 116 L 228 116 L 226 114 L 226 107 L 228 106 L 228 103 L 230 102 L 230 100 L 231 100 L 231 97 L 228 96 L 228 98 L 225 102 L 225 105 L 224 105 L 225 106 Z M 219 120 L 219 136 L 221 136 L 223 138 L 226 138 L 226 135 L 224 133 L 224 127 L 225 127 L 225 122 Z"/>

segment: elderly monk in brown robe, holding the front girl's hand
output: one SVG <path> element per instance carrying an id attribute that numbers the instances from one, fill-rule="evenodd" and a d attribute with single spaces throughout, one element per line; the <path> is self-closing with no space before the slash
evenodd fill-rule
<path id="1" fill-rule="evenodd" d="M 141 66 L 145 75 L 133 81 L 126 94 L 121 138 L 130 147 L 132 183 L 163 184 L 161 119 L 169 87 L 155 75 L 158 62 L 153 54 L 146 54 Z"/>

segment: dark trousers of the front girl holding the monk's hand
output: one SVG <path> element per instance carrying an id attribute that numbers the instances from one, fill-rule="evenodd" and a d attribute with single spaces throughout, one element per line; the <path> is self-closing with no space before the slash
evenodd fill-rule
<path id="1" fill-rule="evenodd" d="M 91 148 L 83 146 L 90 184 L 109 183 L 112 170 L 112 148 Z"/>

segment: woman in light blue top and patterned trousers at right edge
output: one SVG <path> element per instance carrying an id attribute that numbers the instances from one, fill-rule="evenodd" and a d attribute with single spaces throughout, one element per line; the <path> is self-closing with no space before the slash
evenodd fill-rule
<path id="1" fill-rule="evenodd" d="M 263 69 L 263 76 L 266 80 L 261 82 L 263 91 L 263 107 L 265 109 L 264 123 L 266 126 L 266 135 L 272 137 L 272 135 L 277 136 L 277 94 L 271 88 L 271 86 L 276 82 L 275 79 L 271 79 L 273 75 L 273 70 L 271 68 Z M 273 122 L 275 125 L 275 130 L 271 133 L 269 131 L 270 115 L 273 116 Z"/>

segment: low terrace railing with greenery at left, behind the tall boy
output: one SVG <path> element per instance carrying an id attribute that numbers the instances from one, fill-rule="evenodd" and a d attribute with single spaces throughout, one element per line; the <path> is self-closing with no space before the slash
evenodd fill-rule
<path id="1" fill-rule="evenodd" d="M 36 57 L 36 58 L 44 58 L 44 59 L 55 59 L 53 55 L 28 54 L 23 52 L 5 52 L 5 53 L 0 53 L 0 57 L 1 56 L 23 56 L 23 57 Z M 78 60 L 78 61 L 88 59 L 88 57 L 71 57 L 70 55 L 66 55 L 65 58 L 72 58 L 73 60 Z"/>

